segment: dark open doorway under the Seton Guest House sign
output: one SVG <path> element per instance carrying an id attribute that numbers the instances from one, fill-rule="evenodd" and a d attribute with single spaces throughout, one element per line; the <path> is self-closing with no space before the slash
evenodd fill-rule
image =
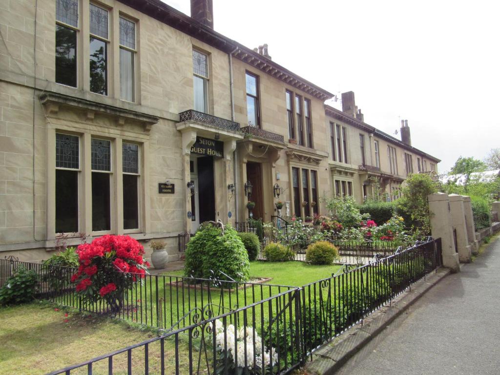
<path id="1" fill-rule="evenodd" d="M 194 183 L 194 195 L 191 196 L 191 231 L 195 232 L 200 223 L 215 221 L 213 157 L 191 154 L 189 169 L 191 181 Z"/>

